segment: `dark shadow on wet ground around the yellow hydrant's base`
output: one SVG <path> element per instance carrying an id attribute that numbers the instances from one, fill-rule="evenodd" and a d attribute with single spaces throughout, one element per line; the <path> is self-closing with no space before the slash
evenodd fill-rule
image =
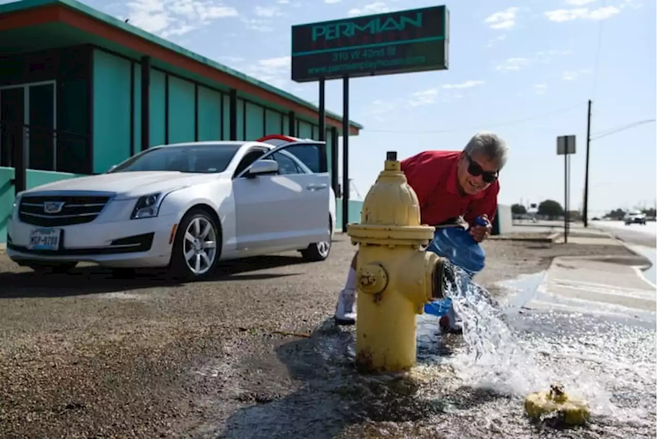
<path id="1" fill-rule="evenodd" d="M 360 375 L 353 364 L 353 333 L 326 320 L 310 337 L 275 349 L 298 390 L 286 396 L 252 395 L 252 405 L 235 411 L 219 438 L 361 437 L 365 425 L 426 423 L 454 410 L 455 401 L 426 398 L 426 382 L 413 373 Z M 424 389 L 426 390 L 426 389 Z M 499 398 L 493 392 L 458 389 L 457 410 Z M 446 401 L 449 400 L 449 408 Z M 360 426 L 363 425 L 363 428 Z M 365 436 L 363 436 L 365 437 Z M 401 436 L 400 436 L 401 437 Z M 432 436 L 433 437 L 433 436 Z"/>

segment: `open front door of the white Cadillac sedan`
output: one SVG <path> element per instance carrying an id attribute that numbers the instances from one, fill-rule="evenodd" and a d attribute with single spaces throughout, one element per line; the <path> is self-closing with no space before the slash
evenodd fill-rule
<path id="1" fill-rule="evenodd" d="M 287 151 L 300 146 L 283 145 L 260 157 L 277 161 L 278 174 L 246 178 L 247 169 L 233 180 L 238 250 L 305 248 L 328 239 L 328 172 L 312 172 Z M 321 153 L 313 146 L 304 146 L 303 151 L 307 159 L 321 162 L 307 152 Z"/>

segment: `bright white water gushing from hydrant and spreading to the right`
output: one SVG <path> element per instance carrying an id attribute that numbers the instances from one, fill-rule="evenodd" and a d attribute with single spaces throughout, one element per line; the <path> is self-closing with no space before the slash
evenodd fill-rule
<path id="1" fill-rule="evenodd" d="M 640 430 L 647 434 L 648 426 L 654 427 L 654 328 L 564 313 L 521 315 L 510 322 L 514 319 L 484 288 L 459 268 L 455 272 L 455 280 L 447 282 L 446 296 L 463 320 L 466 347 L 444 363 L 463 385 L 520 400 L 558 382 L 568 394 L 589 402 L 594 423 L 627 425 L 634 434 Z M 426 336 L 423 327 L 435 321 L 432 316 L 419 319 L 420 337 Z"/>

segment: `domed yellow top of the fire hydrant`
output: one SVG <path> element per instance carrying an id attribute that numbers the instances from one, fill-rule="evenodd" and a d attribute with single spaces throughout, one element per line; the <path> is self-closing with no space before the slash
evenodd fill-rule
<path id="1" fill-rule="evenodd" d="M 386 153 L 384 170 L 365 197 L 361 224 L 420 225 L 420 203 L 401 172 L 395 151 Z"/>

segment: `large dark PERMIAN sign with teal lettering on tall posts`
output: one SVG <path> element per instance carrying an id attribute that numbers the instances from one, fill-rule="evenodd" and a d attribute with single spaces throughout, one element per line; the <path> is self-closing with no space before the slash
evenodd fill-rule
<path id="1" fill-rule="evenodd" d="M 322 94 L 327 79 L 343 80 L 342 117 L 346 119 L 342 128 L 344 231 L 349 218 L 350 78 L 446 70 L 448 61 L 449 11 L 445 6 L 292 26 L 292 81 L 319 81 Z M 325 117 L 322 105 L 319 117 Z"/>

